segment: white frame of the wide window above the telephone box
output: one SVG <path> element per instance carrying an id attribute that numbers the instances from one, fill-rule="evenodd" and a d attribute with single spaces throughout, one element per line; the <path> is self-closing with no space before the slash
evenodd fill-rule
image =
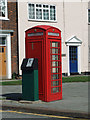
<path id="1" fill-rule="evenodd" d="M 35 19 L 30 19 L 29 18 L 29 4 L 34 4 L 35 5 Z M 39 9 L 41 8 L 42 9 L 42 19 L 36 19 L 36 4 L 40 4 L 42 7 L 38 7 Z M 48 5 L 49 6 L 49 8 L 43 8 L 43 5 Z M 30 3 L 30 2 L 28 2 L 28 20 L 30 20 L 30 21 L 48 21 L 48 22 L 57 22 L 57 8 L 56 8 L 56 5 L 53 5 L 53 4 L 42 4 L 42 3 Z M 56 20 L 50 20 L 50 6 L 55 6 L 55 19 Z M 43 10 L 44 9 L 46 9 L 46 10 L 49 10 L 49 20 L 44 20 L 43 19 Z"/>

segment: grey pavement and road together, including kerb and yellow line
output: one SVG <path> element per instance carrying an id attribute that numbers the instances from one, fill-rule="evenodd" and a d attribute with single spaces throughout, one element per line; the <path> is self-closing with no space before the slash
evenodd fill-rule
<path id="1" fill-rule="evenodd" d="M 6 100 L 3 100 L 1 103 L 3 118 L 11 117 L 14 119 L 33 117 L 39 119 L 53 118 L 61 120 L 74 120 L 74 118 L 81 118 L 81 120 L 83 120 L 84 118 L 88 118 L 88 82 L 63 83 L 62 87 L 62 100 L 52 102 L 31 102 L 22 101 L 21 85 L 3 86 L 1 97 L 6 98 Z M 15 109 L 10 109 L 12 107 Z M 70 116 L 70 118 L 62 118 L 62 116 Z"/>

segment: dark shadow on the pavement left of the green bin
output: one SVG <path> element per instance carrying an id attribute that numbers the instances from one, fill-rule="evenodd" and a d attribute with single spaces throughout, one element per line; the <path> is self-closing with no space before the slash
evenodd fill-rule
<path id="1" fill-rule="evenodd" d="M 22 100 L 22 93 L 9 93 L 3 94 L 2 97 L 5 97 L 7 100 Z"/>

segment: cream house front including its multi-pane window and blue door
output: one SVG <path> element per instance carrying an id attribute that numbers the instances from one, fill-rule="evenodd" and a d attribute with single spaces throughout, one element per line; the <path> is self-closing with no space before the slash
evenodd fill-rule
<path id="1" fill-rule="evenodd" d="M 18 0 L 19 73 L 25 58 L 25 31 L 37 25 L 51 25 L 62 32 L 62 73 L 87 73 L 90 66 L 88 28 L 89 2 Z M 89 13 L 89 14 L 88 14 Z M 89 18 L 89 20 L 88 20 Z M 90 29 L 90 28 L 89 28 Z M 89 49 L 88 49 L 89 48 Z M 89 53 L 89 55 L 88 55 Z M 88 61 L 89 60 L 89 61 Z"/>

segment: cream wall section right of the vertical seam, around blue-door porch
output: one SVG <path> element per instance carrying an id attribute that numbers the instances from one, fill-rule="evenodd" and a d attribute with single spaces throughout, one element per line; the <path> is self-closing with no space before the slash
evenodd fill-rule
<path id="1" fill-rule="evenodd" d="M 82 41 L 81 45 L 81 72 L 88 71 L 88 24 L 87 7 L 85 2 L 66 2 L 65 9 L 65 41 L 75 35 Z M 64 46 L 64 50 L 67 47 Z M 67 52 L 66 52 L 67 53 Z M 67 58 L 64 61 L 64 65 Z"/>

